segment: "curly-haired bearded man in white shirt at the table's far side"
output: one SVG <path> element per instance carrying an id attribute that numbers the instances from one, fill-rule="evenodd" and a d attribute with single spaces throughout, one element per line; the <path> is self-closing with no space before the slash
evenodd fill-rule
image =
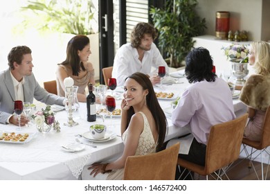
<path id="1" fill-rule="evenodd" d="M 156 29 L 148 23 L 138 23 L 131 34 L 131 42 L 123 44 L 114 58 L 114 69 L 112 78 L 116 78 L 117 85 L 123 85 L 125 78 L 132 73 L 145 73 L 151 80 L 152 85 L 161 82 L 161 78 L 156 73 L 151 73 L 152 67 L 165 66 L 166 72 L 169 68 L 163 59 L 159 49 L 154 44 Z"/>

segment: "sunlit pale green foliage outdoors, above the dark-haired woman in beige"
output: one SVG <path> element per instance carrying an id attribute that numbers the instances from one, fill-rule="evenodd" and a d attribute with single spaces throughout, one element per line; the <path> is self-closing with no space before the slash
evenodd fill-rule
<path id="1" fill-rule="evenodd" d="M 39 30 L 51 30 L 58 33 L 89 35 L 95 33 L 92 21 L 96 8 L 91 0 L 36 0 L 28 1 L 23 10 L 30 10 L 24 15 L 24 26 L 35 26 Z M 37 19 L 38 18 L 38 19 Z"/>

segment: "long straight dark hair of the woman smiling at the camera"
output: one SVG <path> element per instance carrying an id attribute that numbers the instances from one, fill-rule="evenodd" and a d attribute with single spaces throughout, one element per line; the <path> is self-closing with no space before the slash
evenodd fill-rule
<path id="1" fill-rule="evenodd" d="M 138 82 L 139 85 L 143 87 L 144 90 L 148 89 L 148 94 L 146 96 L 146 104 L 147 107 L 150 109 L 150 112 L 152 112 L 152 115 L 154 117 L 154 123 L 156 124 L 156 128 L 159 132 L 158 145 L 156 146 L 156 150 L 159 151 L 161 150 L 161 147 L 165 139 L 165 134 L 167 132 L 167 119 L 163 110 L 161 109 L 161 106 L 159 105 L 159 101 L 156 98 L 156 94 L 154 93 L 152 83 L 144 73 L 140 72 L 133 73 L 131 76 L 128 76 L 127 78 L 134 79 L 136 82 Z M 129 110 L 127 111 L 126 129 L 129 125 L 129 122 L 133 114 L 134 109 L 133 107 L 130 107 Z"/>

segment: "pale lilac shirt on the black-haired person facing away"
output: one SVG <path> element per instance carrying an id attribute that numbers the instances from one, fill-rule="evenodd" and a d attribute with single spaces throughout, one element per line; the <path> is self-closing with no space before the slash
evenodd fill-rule
<path id="1" fill-rule="evenodd" d="M 190 85 L 172 111 L 172 123 L 178 127 L 190 124 L 192 132 L 187 141 L 187 150 L 179 153 L 188 154 L 193 136 L 199 143 L 207 145 L 210 127 L 235 117 L 231 90 L 222 78 L 216 78 L 215 82 L 204 80 Z M 181 142 L 181 139 L 177 141 Z"/>

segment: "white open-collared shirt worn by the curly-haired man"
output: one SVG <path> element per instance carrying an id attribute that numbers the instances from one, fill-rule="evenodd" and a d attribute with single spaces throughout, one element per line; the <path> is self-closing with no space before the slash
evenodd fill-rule
<path id="1" fill-rule="evenodd" d="M 165 66 L 166 73 L 169 73 L 168 65 L 154 43 L 152 43 L 150 51 L 145 51 L 142 62 L 138 60 L 136 48 L 133 48 L 130 43 L 123 44 L 114 58 L 112 78 L 116 78 L 118 86 L 124 85 L 125 78 L 132 73 L 141 72 L 150 75 L 151 68 L 157 69 L 159 66 Z"/>

